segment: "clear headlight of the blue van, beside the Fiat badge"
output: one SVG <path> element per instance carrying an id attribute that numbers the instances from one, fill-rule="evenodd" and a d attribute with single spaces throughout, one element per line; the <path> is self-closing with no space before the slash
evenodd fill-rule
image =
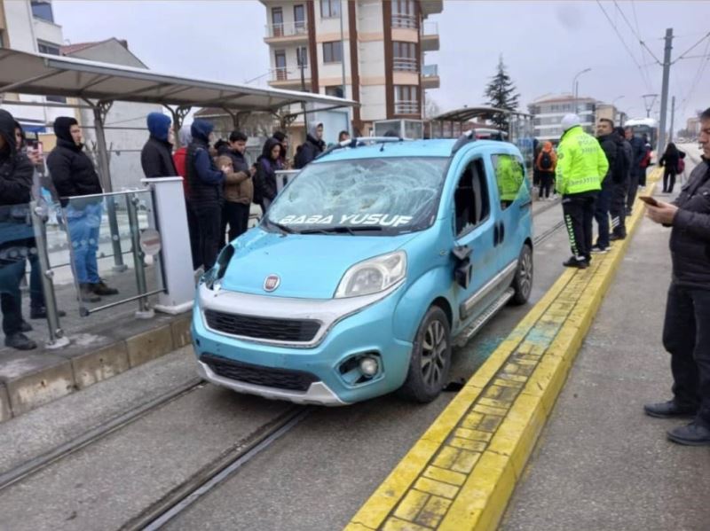
<path id="1" fill-rule="evenodd" d="M 404 251 L 376 256 L 365 262 L 356 263 L 347 270 L 335 291 L 335 299 L 383 292 L 405 276 Z"/>

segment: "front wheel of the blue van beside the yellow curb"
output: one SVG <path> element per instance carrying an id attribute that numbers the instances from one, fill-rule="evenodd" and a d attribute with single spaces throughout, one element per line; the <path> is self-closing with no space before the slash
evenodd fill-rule
<path id="1" fill-rule="evenodd" d="M 451 368 L 451 325 L 446 313 L 432 306 L 416 332 L 406 380 L 399 394 L 413 402 L 431 402 L 446 386 Z"/>

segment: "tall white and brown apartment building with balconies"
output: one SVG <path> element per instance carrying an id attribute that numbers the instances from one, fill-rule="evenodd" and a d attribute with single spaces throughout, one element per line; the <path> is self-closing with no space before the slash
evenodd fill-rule
<path id="1" fill-rule="evenodd" d="M 274 88 L 307 90 L 359 101 L 352 126 L 422 119 L 426 90 L 437 89 L 443 0 L 261 0 Z"/>

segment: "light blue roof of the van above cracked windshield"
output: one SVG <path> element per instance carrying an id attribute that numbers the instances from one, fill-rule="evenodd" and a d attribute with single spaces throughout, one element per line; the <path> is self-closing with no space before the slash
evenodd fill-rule
<path id="1" fill-rule="evenodd" d="M 432 140 L 403 140 L 401 142 L 386 142 L 360 145 L 355 148 L 345 147 L 336 149 L 333 152 L 314 160 L 318 162 L 330 162 L 334 160 L 358 160 L 375 159 L 383 157 L 451 157 L 451 150 L 458 139 L 437 138 Z M 470 143 L 477 147 L 501 147 L 505 144 L 511 147 L 513 144 L 501 142 L 500 140 L 475 140 Z M 384 149 L 383 149 L 384 146 Z"/>

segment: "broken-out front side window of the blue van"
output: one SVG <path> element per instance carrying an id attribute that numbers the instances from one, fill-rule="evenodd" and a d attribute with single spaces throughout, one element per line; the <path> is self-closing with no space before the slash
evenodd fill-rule
<path id="1" fill-rule="evenodd" d="M 470 162 L 454 192 L 456 238 L 483 223 L 491 211 L 483 160 Z"/>

